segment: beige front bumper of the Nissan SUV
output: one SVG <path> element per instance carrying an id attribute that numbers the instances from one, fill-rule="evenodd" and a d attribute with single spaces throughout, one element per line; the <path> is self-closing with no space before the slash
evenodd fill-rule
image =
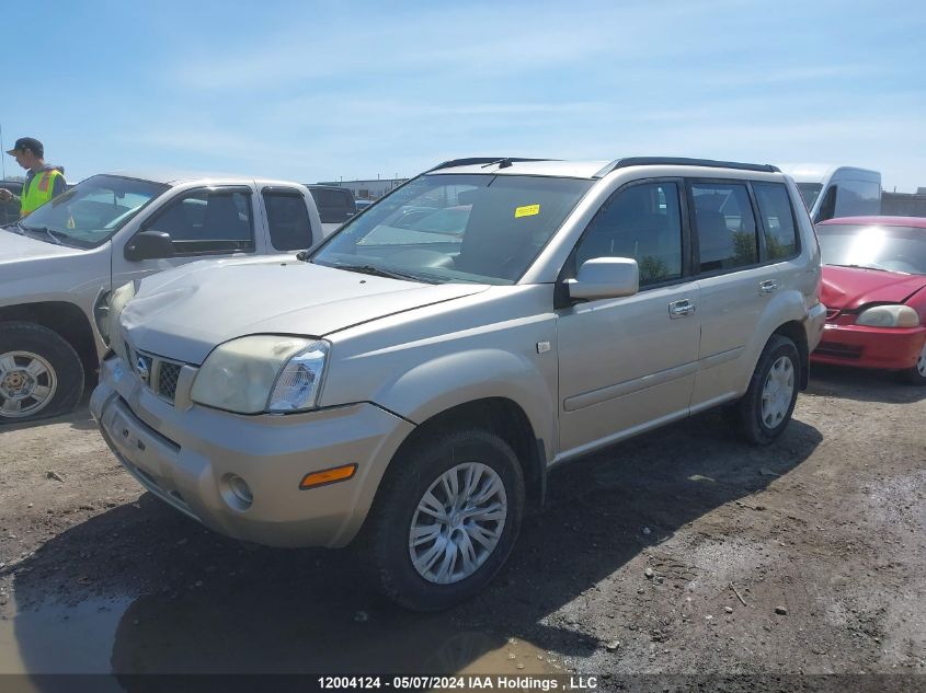
<path id="1" fill-rule="evenodd" d="M 117 357 L 103 361 L 90 408 L 145 488 L 221 534 L 268 546 L 346 545 L 414 428 L 369 403 L 285 416 L 180 409 Z M 299 488 L 307 473 L 351 463 L 357 471 L 347 481 Z M 247 508 L 231 493 L 232 475 L 251 489 Z"/>

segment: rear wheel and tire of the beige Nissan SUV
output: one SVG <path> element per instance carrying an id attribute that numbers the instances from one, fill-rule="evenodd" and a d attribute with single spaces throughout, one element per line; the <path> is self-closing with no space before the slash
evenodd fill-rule
<path id="1" fill-rule="evenodd" d="M 773 335 L 759 356 L 746 394 L 731 412 L 738 432 L 765 446 L 780 436 L 798 401 L 801 360 L 794 343 Z"/>

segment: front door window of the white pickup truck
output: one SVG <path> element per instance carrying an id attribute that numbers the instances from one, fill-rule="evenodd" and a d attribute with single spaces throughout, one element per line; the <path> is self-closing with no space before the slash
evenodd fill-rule
<path id="1" fill-rule="evenodd" d="M 146 229 L 169 233 L 178 255 L 253 251 L 251 190 L 195 190 L 171 201 Z"/>

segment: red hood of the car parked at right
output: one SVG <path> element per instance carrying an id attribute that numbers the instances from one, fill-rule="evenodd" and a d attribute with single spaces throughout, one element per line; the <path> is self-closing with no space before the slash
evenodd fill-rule
<path id="1" fill-rule="evenodd" d="M 903 303 L 923 287 L 923 275 L 824 265 L 820 300 L 826 308 L 855 310 L 866 303 Z"/>

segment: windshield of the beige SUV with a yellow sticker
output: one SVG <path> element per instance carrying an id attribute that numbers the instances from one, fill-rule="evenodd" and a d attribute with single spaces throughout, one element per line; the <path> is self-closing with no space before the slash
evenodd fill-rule
<path id="1" fill-rule="evenodd" d="M 514 284 L 592 184 L 423 175 L 345 224 L 312 262 L 422 281 Z"/>

